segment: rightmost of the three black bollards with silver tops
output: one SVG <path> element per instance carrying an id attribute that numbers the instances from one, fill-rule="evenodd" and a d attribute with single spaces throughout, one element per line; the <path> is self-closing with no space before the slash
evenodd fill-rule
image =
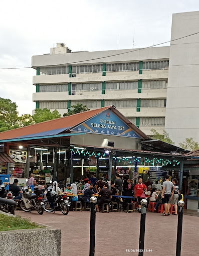
<path id="1" fill-rule="evenodd" d="M 183 219 L 183 206 L 184 201 L 178 203 L 178 220 L 177 220 L 177 241 L 176 241 L 176 256 L 181 255 L 181 240 L 182 240 L 182 219 Z"/>

